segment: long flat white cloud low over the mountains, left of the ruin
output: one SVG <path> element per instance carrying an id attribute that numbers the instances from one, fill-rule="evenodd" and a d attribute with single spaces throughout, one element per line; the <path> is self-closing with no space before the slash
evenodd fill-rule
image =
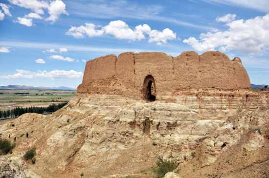
<path id="1" fill-rule="evenodd" d="M 31 72 L 26 70 L 16 70 L 17 73 L 13 75 L 0 75 L 0 79 L 34 79 L 34 78 L 47 78 L 47 79 L 75 79 L 83 77 L 82 72 L 77 72 L 74 70 L 53 70 L 53 71 L 41 71 Z"/>

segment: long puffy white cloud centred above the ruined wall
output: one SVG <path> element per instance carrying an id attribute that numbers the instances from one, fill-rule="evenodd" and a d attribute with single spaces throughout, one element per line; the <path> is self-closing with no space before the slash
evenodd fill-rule
<path id="1" fill-rule="evenodd" d="M 177 38 L 169 28 L 164 29 L 162 32 L 158 30 L 151 30 L 147 24 L 138 25 L 131 29 L 128 24 L 122 20 L 111 21 L 108 25 L 102 27 L 93 23 L 85 23 L 79 27 L 73 27 L 68 30 L 66 35 L 72 35 L 75 38 L 96 37 L 102 35 L 112 35 L 117 39 L 126 40 L 142 40 L 149 36 L 149 42 L 157 42 L 157 44 L 166 43 L 166 40 L 174 40 Z"/>

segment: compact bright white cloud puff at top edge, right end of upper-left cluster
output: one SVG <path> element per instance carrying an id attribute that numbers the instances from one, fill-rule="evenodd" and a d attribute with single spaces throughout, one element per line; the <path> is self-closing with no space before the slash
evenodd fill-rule
<path id="1" fill-rule="evenodd" d="M 50 15 L 46 20 L 55 22 L 61 14 L 69 15 L 66 11 L 66 4 L 62 0 L 55 0 L 50 2 L 48 7 L 48 14 Z"/>

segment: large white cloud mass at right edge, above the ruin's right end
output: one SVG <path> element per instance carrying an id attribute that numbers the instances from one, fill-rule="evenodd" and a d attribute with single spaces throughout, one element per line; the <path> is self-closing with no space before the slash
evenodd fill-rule
<path id="1" fill-rule="evenodd" d="M 269 14 L 248 20 L 225 23 L 226 31 L 213 31 L 183 40 L 198 51 L 218 49 L 236 50 L 248 55 L 259 55 L 269 49 Z"/>

